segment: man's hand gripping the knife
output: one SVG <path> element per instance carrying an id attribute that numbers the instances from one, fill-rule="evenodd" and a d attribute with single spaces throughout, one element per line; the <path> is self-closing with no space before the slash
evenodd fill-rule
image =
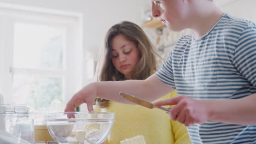
<path id="1" fill-rule="evenodd" d="M 178 96 L 166 100 L 157 101 L 155 106 L 175 105 L 170 109 L 170 117 L 173 121 L 185 124 L 187 127 L 195 123 L 208 121 L 208 101 L 191 99 L 185 96 Z"/>

